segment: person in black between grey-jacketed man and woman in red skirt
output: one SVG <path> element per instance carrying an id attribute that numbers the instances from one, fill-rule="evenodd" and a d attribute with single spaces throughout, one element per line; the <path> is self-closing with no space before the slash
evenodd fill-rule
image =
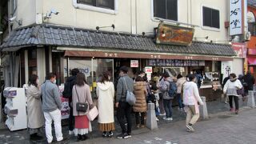
<path id="1" fill-rule="evenodd" d="M 64 84 L 64 91 L 62 92 L 63 98 L 69 99 L 69 105 L 70 105 L 69 134 L 74 134 L 74 116 L 73 116 L 73 107 L 71 106 L 71 102 L 72 102 L 72 89 L 78 73 L 79 73 L 78 69 L 71 70 L 71 76 L 69 78 L 66 78 L 66 83 Z"/>

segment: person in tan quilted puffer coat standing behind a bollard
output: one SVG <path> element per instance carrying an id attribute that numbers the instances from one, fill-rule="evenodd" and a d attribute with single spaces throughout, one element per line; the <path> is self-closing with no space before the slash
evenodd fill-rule
<path id="1" fill-rule="evenodd" d="M 134 112 L 136 118 L 136 125 L 139 127 L 145 127 L 144 117 L 146 115 L 146 83 L 144 82 L 142 77 L 137 77 L 134 83 L 134 95 L 136 97 L 136 103 L 134 105 Z M 141 113 L 141 118 L 139 116 Z"/>

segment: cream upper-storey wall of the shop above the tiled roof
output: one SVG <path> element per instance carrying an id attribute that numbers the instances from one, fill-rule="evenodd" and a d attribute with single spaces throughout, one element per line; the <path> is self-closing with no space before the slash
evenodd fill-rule
<path id="1" fill-rule="evenodd" d="M 54 8 L 59 11 L 59 14 L 53 14 L 52 18 L 46 19 L 44 22 L 92 30 L 95 30 L 96 26 L 111 26 L 114 24 L 115 31 L 133 34 L 153 32 L 154 27 L 158 26 L 159 23 L 158 20 L 153 18 L 153 0 L 116 0 L 116 14 L 75 8 L 73 3 L 75 1 L 18 1 L 18 18 L 22 18 L 22 26 L 28 26 L 35 23 L 36 14 L 42 14 L 42 17 L 44 17 L 47 12 L 49 13 Z M 206 29 L 202 26 L 202 6 L 219 10 L 220 29 Z M 194 37 L 199 38 L 198 41 L 204 41 L 203 38 L 209 36 L 208 42 L 213 40 L 225 43 L 228 39 L 228 31 L 224 27 L 224 22 L 228 21 L 227 7 L 228 2 L 223 0 L 178 0 L 178 22 L 196 25 Z M 111 28 L 102 30 L 112 31 Z"/>

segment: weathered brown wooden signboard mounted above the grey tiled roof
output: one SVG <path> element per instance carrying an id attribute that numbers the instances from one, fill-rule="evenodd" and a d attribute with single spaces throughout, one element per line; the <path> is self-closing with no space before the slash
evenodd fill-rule
<path id="1" fill-rule="evenodd" d="M 194 28 L 160 23 L 156 43 L 167 45 L 190 46 L 194 36 Z"/>

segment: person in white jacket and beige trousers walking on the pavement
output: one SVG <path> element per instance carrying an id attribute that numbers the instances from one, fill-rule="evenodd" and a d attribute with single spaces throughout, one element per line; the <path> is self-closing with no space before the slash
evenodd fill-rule
<path id="1" fill-rule="evenodd" d="M 185 105 L 184 110 L 186 111 L 186 130 L 194 132 L 194 124 L 198 121 L 200 116 L 199 106 L 203 105 L 202 99 L 199 96 L 198 86 L 195 83 L 196 77 L 194 74 L 187 76 L 187 82 L 183 86 L 183 104 Z"/>

